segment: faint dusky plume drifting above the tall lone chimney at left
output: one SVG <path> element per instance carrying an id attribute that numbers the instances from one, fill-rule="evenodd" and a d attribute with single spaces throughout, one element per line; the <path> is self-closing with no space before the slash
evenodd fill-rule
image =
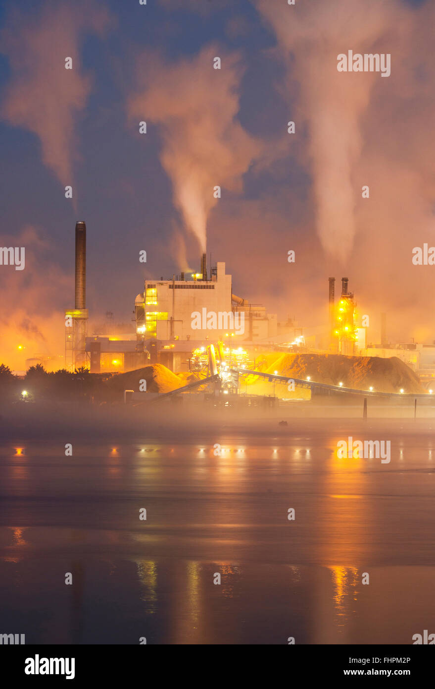
<path id="1" fill-rule="evenodd" d="M 13 10 L 1 32 L 11 70 L 1 116 L 39 137 L 43 163 L 62 185 L 73 183 L 75 125 L 91 89 L 81 68 L 81 39 L 85 33 L 103 34 L 108 25 L 106 10 L 93 1 L 48 2 L 36 14 Z M 66 57 L 72 58 L 72 70 L 65 69 Z"/>

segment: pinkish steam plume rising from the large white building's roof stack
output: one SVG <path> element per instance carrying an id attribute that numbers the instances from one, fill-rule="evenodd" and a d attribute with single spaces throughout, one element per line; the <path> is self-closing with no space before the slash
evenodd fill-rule
<path id="1" fill-rule="evenodd" d="M 213 69 L 215 56 L 222 59 L 220 70 Z M 174 64 L 142 56 L 138 93 L 129 101 L 131 118 L 160 127 L 162 165 L 184 225 L 201 251 L 206 250 L 207 218 L 217 203 L 214 187 L 241 192 L 242 175 L 260 151 L 237 121 L 241 76 L 239 56 L 215 46 Z"/>

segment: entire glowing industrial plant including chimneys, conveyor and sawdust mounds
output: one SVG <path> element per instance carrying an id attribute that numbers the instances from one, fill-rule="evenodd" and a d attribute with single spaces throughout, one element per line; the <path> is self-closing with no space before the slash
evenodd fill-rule
<path id="1" fill-rule="evenodd" d="M 369 322 L 358 311 L 348 278 L 341 278 L 339 294 L 335 282 L 335 278 L 328 279 L 328 325 L 300 327 L 290 319 L 279 322 L 277 313 L 268 313 L 264 305 L 234 294 L 225 263 L 207 266 L 206 254 L 202 254 L 198 272 L 145 279 L 126 332 L 114 331 L 110 313 L 103 331 L 89 332 L 86 224 L 81 220 L 75 227 L 74 309 L 65 311 L 65 368 L 113 376 L 160 366 L 175 374 L 169 391 L 167 384 L 161 389 L 157 386 L 160 393 L 213 390 L 230 398 L 244 396 L 247 401 L 250 397 L 252 404 L 255 395 L 304 400 L 307 391 L 308 398 L 326 390 L 432 394 L 435 345 L 390 345 L 385 313 L 381 313 L 381 342 L 370 343 Z M 336 379 L 331 373 L 334 356 L 345 368 L 348 363 L 365 368 L 367 375 L 361 374 L 361 381 L 354 373 L 348 373 L 348 380 Z M 404 373 L 397 370 L 397 382 L 387 381 L 385 371 L 377 371 L 372 375 L 374 384 L 361 387 L 365 378 L 370 382 L 368 371 L 379 358 L 385 361 L 381 368 L 391 365 L 394 358 L 398 362 L 394 366 L 405 366 L 415 379 L 403 382 Z M 297 389 L 287 393 L 284 383 L 290 376 Z M 265 386 L 267 382 L 270 385 Z M 149 390 L 131 393 L 150 399 Z"/>

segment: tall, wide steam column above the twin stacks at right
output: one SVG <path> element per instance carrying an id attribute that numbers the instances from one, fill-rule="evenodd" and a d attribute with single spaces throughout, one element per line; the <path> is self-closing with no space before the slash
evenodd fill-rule
<path id="1" fill-rule="evenodd" d="M 414 14 L 395 0 L 308 1 L 297 8 L 258 0 L 257 7 L 275 30 L 289 81 L 300 88 L 293 119 L 299 132 L 308 122 L 317 232 L 325 251 L 344 261 L 357 233 L 361 187 L 370 182 L 358 174 L 364 119 L 376 94 L 390 97 Z M 337 55 L 349 49 L 392 53 L 393 76 L 338 72 Z"/>

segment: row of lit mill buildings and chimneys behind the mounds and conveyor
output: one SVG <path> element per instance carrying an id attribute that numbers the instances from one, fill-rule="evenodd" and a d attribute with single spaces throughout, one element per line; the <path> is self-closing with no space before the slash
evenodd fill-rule
<path id="1" fill-rule="evenodd" d="M 209 364 L 209 346 L 223 352 L 222 362 L 231 369 L 253 370 L 255 360 L 266 351 L 331 353 L 396 357 L 416 371 L 435 389 L 435 342 L 390 344 L 387 318 L 381 313 L 381 342 L 367 345 L 368 323 L 359 327 L 354 294 L 348 278 L 341 278 L 341 295 L 335 300 L 335 278 L 329 278 L 328 331 L 319 325 L 300 329 L 295 322 L 278 324 L 275 313 L 233 294 L 232 277 L 225 263 L 211 270 L 202 255 L 200 271 L 173 275 L 171 280 L 145 280 L 144 291 L 135 301 L 135 328 L 116 333 L 113 314 L 106 313 L 102 331 L 87 336 L 86 225 L 75 227 L 75 302 L 65 311 L 65 367 L 74 371 L 113 373 L 164 364 L 171 371 L 204 375 Z M 109 318 L 110 317 L 110 318 Z M 134 331 L 133 331 L 134 330 Z M 326 334 L 329 333 L 326 339 Z M 35 354 L 26 367 L 49 358 Z"/>

